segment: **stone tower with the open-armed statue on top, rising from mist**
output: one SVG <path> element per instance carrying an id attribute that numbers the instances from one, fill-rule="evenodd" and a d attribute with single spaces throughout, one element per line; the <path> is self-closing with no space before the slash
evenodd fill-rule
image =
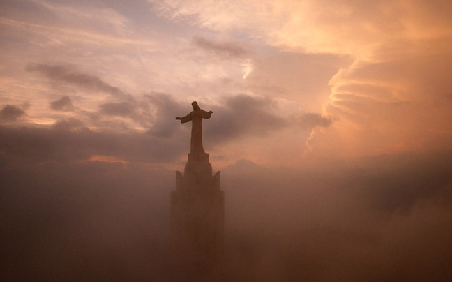
<path id="1" fill-rule="evenodd" d="M 202 147 L 202 119 L 212 112 L 192 103 L 193 112 L 176 117 L 182 123 L 192 121 L 190 153 L 183 174 L 176 171 L 176 189 L 171 192 L 171 232 L 173 246 L 199 267 L 218 260 L 223 248 L 224 192 L 220 190 L 220 172 L 212 174 L 209 154 Z"/>

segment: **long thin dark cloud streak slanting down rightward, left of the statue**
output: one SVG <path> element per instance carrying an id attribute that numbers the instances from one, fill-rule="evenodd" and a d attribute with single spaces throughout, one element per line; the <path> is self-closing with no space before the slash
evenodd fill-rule
<path id="1" fill-rule="evenodd" d="M 66 84 L 72 84 L 77 87 L 83 87 L 86 89 L 92 89 L 95 91 L 103 91 L 111 94 L 112 96 L 118 96 L 123 98 L 130 98 L 128 94 L 125 94 L 119 87 L 114 87 L 99 77 L 81 73 L 68 66 L 50 66 L 48 64 L 28 64 L 27 71 L 34 71 L 40 75 L 44 75 L 53 82 L 63 82 Z"/>

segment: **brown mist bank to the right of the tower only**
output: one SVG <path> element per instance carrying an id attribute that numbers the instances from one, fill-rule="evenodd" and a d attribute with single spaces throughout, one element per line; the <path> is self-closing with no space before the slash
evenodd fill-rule
<path id="1" fill-rule="evenodd" d="M 361 281 L 382 273 L 400 280 L 412 264 L 417 268 L 410 275 L 435 274 L 441 281 L 451 272 L 430 259 L 445 262 L 452 255 L 442 252 L 451 246 L 451 154 L 308 163 L 300 170 L 227 168 L 229 236 L 241 238 L 231 245 L 250 254 L 247 265 L 280 281 L 329 281 L 332 275 Z"/>

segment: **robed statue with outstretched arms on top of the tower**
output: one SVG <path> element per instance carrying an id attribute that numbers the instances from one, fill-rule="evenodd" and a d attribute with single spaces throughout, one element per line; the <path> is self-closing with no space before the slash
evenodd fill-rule
<path id="1" fill-rule="evenodd" d="M 202 119 L 210 119 L 212 111 L 206 112 L 202 110 L 197 102 L 192 103 L 193 112 L 185 117 L 176 117 L 182 124 L 192 121 L 192 135 L 190 143 L 190 153 L 205 153 L 202 147 Z"/>

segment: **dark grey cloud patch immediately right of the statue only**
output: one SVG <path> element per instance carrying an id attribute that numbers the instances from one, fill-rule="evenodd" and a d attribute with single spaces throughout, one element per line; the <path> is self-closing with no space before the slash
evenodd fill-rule
<path id="1" fill-rule="evenodd" d="M 206 138 L 215 144 L 247 135 L 268 135 L 288 125 L 277 111 L 278 105 L 271 98 L 245 94 L 226 97 L 223 107 L 213 110 L 215 126 L 206 122 Z"/>

